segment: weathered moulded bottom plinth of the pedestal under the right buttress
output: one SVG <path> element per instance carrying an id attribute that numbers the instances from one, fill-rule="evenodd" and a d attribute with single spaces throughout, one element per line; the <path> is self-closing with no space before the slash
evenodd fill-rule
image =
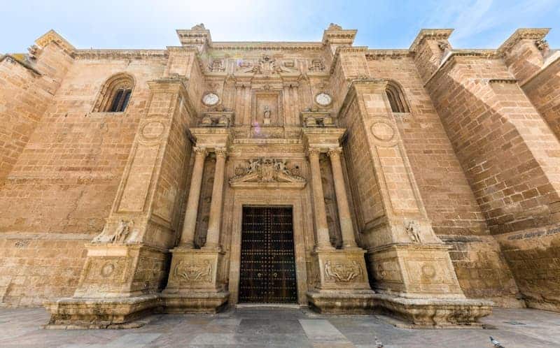
<path id="1" fill-rule="evenodd" d="M 478 319 L 491 314 L 493 303 L 478 299 L 402 298 L 375 293 L 376 312 L 405 321 L 410 328 L 480 326 Z"/>

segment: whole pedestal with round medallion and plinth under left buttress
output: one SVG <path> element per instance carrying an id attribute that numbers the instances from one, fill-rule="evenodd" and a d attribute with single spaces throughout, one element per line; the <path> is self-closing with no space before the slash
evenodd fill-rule
<path id="1" fill-rule="evenodd" d="M 152 312 L 167 253 L 145 245 L 88 244 L 73 298 L 45 303 L 52 328 L 107 328 Z"/>

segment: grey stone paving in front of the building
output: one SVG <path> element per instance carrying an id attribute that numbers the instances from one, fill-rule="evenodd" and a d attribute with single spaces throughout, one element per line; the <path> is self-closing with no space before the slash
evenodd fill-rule
<path id="1" fill-rule="evenodd" d="M 560 314 L 495 310 L 495 328 L 411 330 L 376 316 L 325 316 L 307 309 L 238 308 L 216 315 L 160 314 L 127 330 L 45 330 L 45 310 L 0 308 L 0 347 L 560 347 Z"/>

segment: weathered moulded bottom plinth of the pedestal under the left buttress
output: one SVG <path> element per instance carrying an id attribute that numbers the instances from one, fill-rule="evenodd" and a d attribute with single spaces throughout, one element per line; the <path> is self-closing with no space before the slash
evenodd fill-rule
<path id="1" fill-rule="evenodd" d="M 59 298 L 45 303 L 50 321 L 45 328 L 134 328 L 134 323 L 161 306 L 160 296 L 126 298 Z"/>

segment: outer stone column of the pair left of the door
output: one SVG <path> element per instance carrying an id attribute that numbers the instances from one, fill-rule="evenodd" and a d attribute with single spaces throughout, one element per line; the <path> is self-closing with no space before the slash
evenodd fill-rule
<path id="1" fill-rule="evenodd" d="M 180 245 L 186 248 L 195 246 L 195 227 L 197 225 L 198 202 L 200 201 L 200 186 L 202 184 L 202 172 L 204 171 L 204 159 L 207 150 L 204 147 L 195 147 L 195 165 L 190 177 L 190 190 L 188 192 L 187 208 L 185 211 L 185 222 L 181 233 Z"/>

